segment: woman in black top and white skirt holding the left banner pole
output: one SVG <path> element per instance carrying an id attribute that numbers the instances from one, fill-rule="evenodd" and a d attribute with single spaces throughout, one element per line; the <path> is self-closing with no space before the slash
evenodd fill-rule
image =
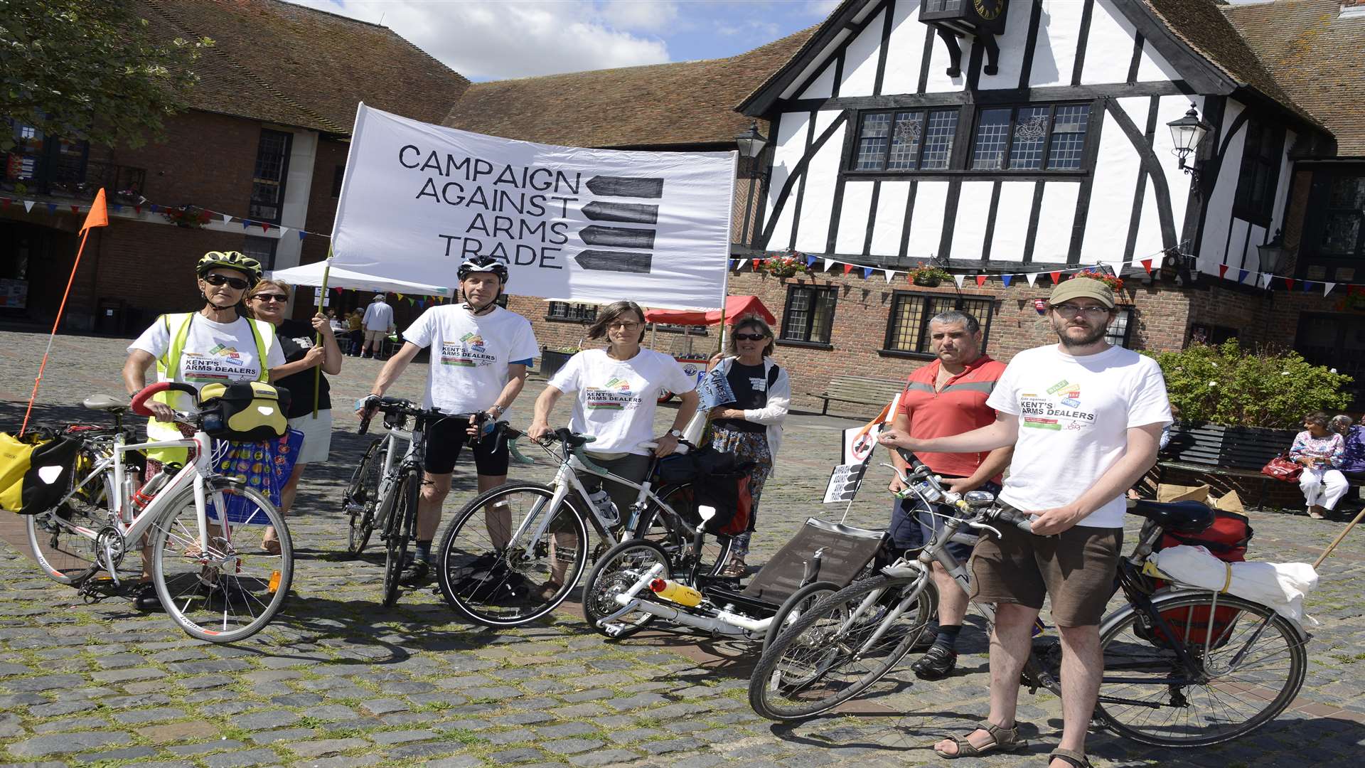
<path id="1" fill-rule="evenodd" d="M 313 369 L 321 366 L 322 372 L 330 376 L 341 373 L 341 347 L 337 346 L 328 317 L 314 314 L 307 323 L 285 320 L 284 310 L 289 305 L 292 292 L 293 288 L 284 280 L 261 280 L 247 297 L 247 314 L 274 325 L 285 364 L 272 369 L 270 373 L 274 376 L 276 387 L 289 391 L 289 410 L 285 413 L 289 417 L 289 428 L 303 433 L 303 447 L 299 448 L 293 474 L 280 488 L 281 515 L 288 515 L 289 507 L 293 506 L 303 467 L 310 462 L 328 461 L 332 448 L 332 387 L 326 376 L 318 376 Z M 321 344 L 315 343 L 319 336 Z M 318 391 L 317 418 L 313 417 L 314 383 Z M 266 529 L 262 544 L 268 552 L 280 553 L 280 540 L 276 538 L 273 527 Z"/>

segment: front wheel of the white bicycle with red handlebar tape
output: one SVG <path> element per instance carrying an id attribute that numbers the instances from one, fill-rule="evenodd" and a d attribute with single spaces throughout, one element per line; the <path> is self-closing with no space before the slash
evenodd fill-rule
<path id="1" fill-rule="evenodd" d="M 190 637 L 233 642 L 261 631 L 284 604 L 293 579 L 293 541 L 284 517 L 254 488 L 227 477 L 206 485 L 207 548 L 194 488 L 186 488 L 147 533 L 152 582 L 171 620 Z M 266 526 L 274 526 L 278 555 L 263 547 Z"/>

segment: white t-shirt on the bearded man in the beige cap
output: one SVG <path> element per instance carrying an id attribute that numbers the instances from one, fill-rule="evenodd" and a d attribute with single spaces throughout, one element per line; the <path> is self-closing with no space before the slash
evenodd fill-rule
<path id="1" fill-rule="evenodd" d="M 1127 430 L 1171 424 L 1156 361 L 1110 347 L 1073 357 L 1057 344 L 1014 355 L 986 404 L 1020 421 L 1001 500 L 1026 512 L 1070 504 L 1118 462 Z M 1123 496 L 1080 523 L 1122 527 Z"/>

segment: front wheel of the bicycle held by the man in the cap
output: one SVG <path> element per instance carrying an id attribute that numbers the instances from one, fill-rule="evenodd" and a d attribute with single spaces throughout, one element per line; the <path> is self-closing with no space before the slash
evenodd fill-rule
<path id="1" fill-rule="evenodd" d="M 923 584 L 915 603 L 898 620 L 910 616 L 902 631 L 887 630 L 880 644 L 885 655 L 865 671 L 854 671 L 846 685 L 835 674 L 861 659 L 848 656 L 846 649 L 861 645 L 863 635 L 871 635 L 886 619 L 893 603 L 904 599 L 904 589 Z M 845 635 L 838 629 L 859 604 L 874 590 L 886 589 L 874 605 L 875 614 L 859 620 Z M 928 575 L 920 578 L 875 577 L 854 582 L 811 607 L 792 626 L 786 627 L 759 657 L 749 676 L 749 707 L 763 717 L 778 722 L 803 720 L 834 709 L 861 694 L 890 672 L 909 653 L 910 646 L 925 631 L 938 609 L 938 592 Z M 845 640 L 848 638 L 848 640 Z M 807 655 L 809 653 L 809 655 Z M 784 666 L 782 661 L 789 661 Z M 784 689 L 784 678 L 793 681 Z M 819 687 L 818 687 L 819 686 Z M 793 698 L 801 694 L 801 698 Z"/>

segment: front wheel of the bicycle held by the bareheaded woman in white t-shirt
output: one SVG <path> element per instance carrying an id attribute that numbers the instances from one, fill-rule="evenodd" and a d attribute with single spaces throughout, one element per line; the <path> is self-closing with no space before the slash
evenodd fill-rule
<path id="1" fill-rule="evenodd" d="M 511 537 L 527 515 L 545 514 L 553 496 L 554 489 L 549 485 L 505 482 L 479 493 L 456 514 L 441 538 L 437 558 L 441 594 L 456 614 L 486 627 L 517 627 L 554 611 L 573 593 L 583 577 L 590 544 L 587 523 L 573 493 L 553 510 L 554 517 L 539 541 L 500 545 L 493 536 L 495 525 Z M 506 525 L 489 522 L 487 511 L 498 507 L 506 510 Z M 536 525 L 532 522 L 527 527 Z M 564 556 L 565 545 L 560 541 L 573 543 L 568 547 L 571 558 Z M 556 558 L 568 563 L 562 584 L 554 584 Z"/>

